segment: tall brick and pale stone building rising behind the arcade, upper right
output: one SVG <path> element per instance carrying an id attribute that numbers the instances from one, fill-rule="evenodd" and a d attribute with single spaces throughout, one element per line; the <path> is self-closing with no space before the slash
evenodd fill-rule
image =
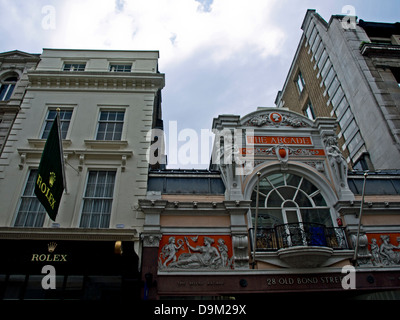
<path id="1" fill-rule="evenodd" d="M 338 119 L 339 145 L 355 169 L 396 169 L 399 157 L 399 24 L 327 23 L 308 10 L 276 105 Z M 382 156 L 384 155 L 384 156 Z"/>

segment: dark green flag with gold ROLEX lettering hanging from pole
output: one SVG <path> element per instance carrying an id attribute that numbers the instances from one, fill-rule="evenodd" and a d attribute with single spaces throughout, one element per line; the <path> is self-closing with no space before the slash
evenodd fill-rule
<path id="1" fill-rule="evenodd" d="M 64 157 L 57 112 L 44 146 L 35 185 L 35 194 L 53 221 L 56 220 L 64 189 Z"/>

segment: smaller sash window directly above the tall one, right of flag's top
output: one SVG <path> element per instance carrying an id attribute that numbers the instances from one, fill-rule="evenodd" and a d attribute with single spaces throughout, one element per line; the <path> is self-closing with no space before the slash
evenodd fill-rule
<path id="1" fill-rule="evenodd" d="M 96 140 L 121 140 L 124 117 L 124 111 L 101 111 Z"/>

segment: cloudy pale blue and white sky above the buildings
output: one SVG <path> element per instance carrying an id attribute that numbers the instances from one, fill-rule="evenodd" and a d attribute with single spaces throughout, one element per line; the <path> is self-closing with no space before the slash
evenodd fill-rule
<path id="1" fill-rule="evenodd" d="M 201 169 L 213 118 L 275 106 L 307 9 L 400 21 L 400 0 L 0 0 L 0 52 L 158 50 L 168 168 Z"/>

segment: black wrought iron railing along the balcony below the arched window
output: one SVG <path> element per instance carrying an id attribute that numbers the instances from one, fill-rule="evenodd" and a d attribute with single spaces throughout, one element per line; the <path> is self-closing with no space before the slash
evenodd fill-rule
<path id="1" fill-rule="evenodd" d="M 250 229 L 249 233 L 253 250 L 254 228 Z M 257 251 L 276 251 L 297 246 L 349 249 L 343 228 L 307 222 L 282 224 L 275 228 L 257 228 Z"/>

